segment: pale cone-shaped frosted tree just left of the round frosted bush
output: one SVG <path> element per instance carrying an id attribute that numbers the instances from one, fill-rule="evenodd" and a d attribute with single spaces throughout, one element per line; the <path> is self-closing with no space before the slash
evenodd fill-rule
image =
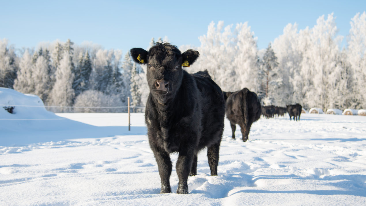
<path id="1" fill-rule="evenodd" d="M 72 106 L 72 100 L 75 97 L 74 89 L 72 89 L 74 78 L 70 54 L 65 52 L 56 71 L 56 82 L 48 98 L 49 106 Z M 60 112 L 70 111 L 69 108 L 51 108 L 51 110 Z"/>

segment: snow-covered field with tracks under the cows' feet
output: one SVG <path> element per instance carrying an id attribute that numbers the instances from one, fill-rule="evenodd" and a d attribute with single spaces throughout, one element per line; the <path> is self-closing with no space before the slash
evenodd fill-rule
<path id="1" fill-rule="evenodd" d="M 261 118 L 245 143 L 225 119 L 219 175 L 202 151 L 178 195 L 174 167 L 173 193 L 159 194 L 143 114 L 128 131 L 125 113 L 19 109 L 0 107 L 0 205 L 366 205 L 364 116 Z"/>

